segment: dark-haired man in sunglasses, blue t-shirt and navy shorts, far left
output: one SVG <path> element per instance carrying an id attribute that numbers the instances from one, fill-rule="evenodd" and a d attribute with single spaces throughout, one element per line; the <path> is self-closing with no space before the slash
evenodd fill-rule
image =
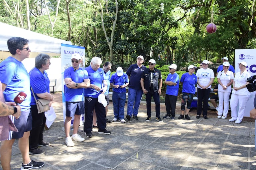
<path id="1" fill-rule="evenodd" d="M 44 166 L 44 162 L 36 162 L 29 157 L 29 135 L 32 129 L 32 116 L 30 112 L 30 79 L 29 74 L 21 63 L 29 58 L 28 40 L 20 37 L 12 37 L 7 41 L 7 46 L 12 54 L 0 64 L 0 81 L 6 102 L 14 102 L 14 98 L 24 92 L 27 97 L 19 104 L 21 116 L 15 119 L 10 116 L 18 132 L 9 131 L 9 139 L 2 141 L 0 147 L 1 164 L 3 169 L 11 169 L 12 145 L 15 139 L 19 139 L 19 149 L 22 154 L 23 163 L 21 169 L 34 169 Z M 15 110 L 14 110 L 15 111 Z"/>

